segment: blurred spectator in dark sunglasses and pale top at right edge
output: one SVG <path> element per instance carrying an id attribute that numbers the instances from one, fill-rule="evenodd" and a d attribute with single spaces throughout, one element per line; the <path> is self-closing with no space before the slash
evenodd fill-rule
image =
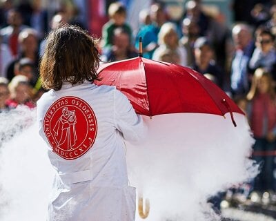
<path id="1" fill-rule="evenodd" d="M 257 68 L 265 68 L 273 73 L 276 64 L 276 50 L 274 47 L 275 36 L 269 30 L 262 30 L 255 41 L 256 48 L 249 61 L 249 68 L 254 71 Z M 273 77 L 276 80 L 276 75 Z"/>

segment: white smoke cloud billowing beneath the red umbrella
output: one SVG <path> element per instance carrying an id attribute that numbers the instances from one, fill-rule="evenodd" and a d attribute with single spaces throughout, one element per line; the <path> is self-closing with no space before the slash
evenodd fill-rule
<path id="1" fill-rule="evenodd" d="M 130 184 L 150 201 L 146 220 L 214 221 L 208 198 L 257 175 L 248 156 L 253 138 L 244 115 L 144 117 L 148 140 L 127 146 Z M 141 220 L 137 213 L 137 220 Z"/>

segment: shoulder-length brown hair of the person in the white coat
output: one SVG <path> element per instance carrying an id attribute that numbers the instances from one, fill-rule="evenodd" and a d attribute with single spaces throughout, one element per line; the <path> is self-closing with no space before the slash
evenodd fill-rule
<path id="1" fill-rule="evenodd" d="M 77 26 L 63 25 L 52 30 L 46 39 L 39 68 L 43 88 L 60 90 L 63 82 L 77 84 L 99 80 L 97 41 Z"/>

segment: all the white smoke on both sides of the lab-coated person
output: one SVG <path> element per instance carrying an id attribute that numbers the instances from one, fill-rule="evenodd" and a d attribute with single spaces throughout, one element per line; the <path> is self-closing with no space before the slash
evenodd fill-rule
<path id="1" fill-rule="evenodd" d="M 46 144 L 38 135 L 35 110 L 23 113 L 0 115 L 6 122 L 1 124 L 1 134 L 7 134 L 7 129 L 19 131 L 12 137 L 5 135 L 9 141 L 0 148 L 2 221 L 46 220 L 53 171 Z M 146 220 L 219 220 L 206 200 L 257 173 L 248 159 L 253 139 L 245 117 L 235 115 L 237 128 L 229 115 L 226 119 L 203 114 L 144 119 L 148 139 L 140 146 L 126 146 L 130 185 L 150 200 Z M 136 220 L 141 220 L 138 210 Z"/>

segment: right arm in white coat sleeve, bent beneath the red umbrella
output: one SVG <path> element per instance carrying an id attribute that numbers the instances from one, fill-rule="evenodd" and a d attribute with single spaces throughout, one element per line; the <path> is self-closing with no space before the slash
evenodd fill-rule
<path id="1" fill-rule="evenodd" d="M 119 90 L 115 90 L 115 124 L 124 140 L 130 143 L 142 142 L 147 128 L 141 115 L 137 115 L 128 98 Z"/>

